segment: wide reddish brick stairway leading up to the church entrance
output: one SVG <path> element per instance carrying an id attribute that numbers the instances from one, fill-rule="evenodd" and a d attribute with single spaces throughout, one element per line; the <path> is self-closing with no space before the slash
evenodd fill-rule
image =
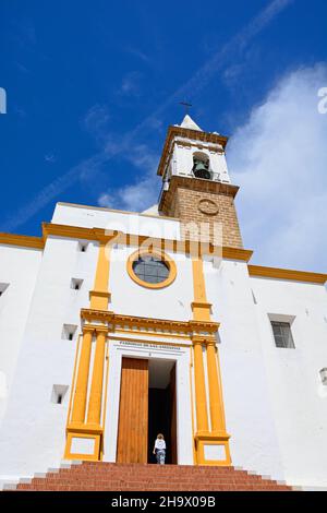
<path id="1" fill-rule="evenodd" d="M 12 487 L 11 487 L 12 489 Z M 17 491 L 292 491 L 234 467 L 83 462 L 49 472 Z"/>

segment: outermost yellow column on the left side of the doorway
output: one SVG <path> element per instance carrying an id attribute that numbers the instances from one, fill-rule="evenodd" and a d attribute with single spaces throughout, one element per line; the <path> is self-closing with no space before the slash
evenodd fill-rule
<path id="1" fill-rule="evenodd" d="M 85 418 L 93 332 L 94 329 L 84 329 L 77 379 L 75 385 L 72 422 L 84 422 Z"/>

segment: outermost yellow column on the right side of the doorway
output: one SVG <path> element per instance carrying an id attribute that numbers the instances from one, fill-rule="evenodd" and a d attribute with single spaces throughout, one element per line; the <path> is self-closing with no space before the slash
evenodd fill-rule
<path id="1" fill-rule="evenodd" d="M 210 397 L 210 418 L 213 432 L 226 432 L 221 383 L 217 369 L 215 341 L 207 342 L 207 366 Z"/>

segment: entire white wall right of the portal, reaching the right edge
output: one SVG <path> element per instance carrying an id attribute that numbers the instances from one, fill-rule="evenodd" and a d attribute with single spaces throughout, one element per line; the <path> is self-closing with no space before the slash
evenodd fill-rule
<path id="1" fill-rule="evenodd" d="M 250 277 L 206 263 L 220 322 L 227 430 L 234 465 L 299 486 L 327 486 L 327 296 L 323 285 Z M 218 294 L 217 294 L 218 293 Z M 295 349 L 277 348 L 268 314 L 294 319 Z"/>

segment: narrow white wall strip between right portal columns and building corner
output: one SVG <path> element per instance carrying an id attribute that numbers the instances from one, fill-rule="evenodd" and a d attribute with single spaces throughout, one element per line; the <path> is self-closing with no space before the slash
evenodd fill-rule
<path id="1" fill-rule="evenodd" d="M 220 322 L 218 346 L 232 463 L 282 479 L 254 303 L 243 262 L 205 262 L 207 299 Z"/>

